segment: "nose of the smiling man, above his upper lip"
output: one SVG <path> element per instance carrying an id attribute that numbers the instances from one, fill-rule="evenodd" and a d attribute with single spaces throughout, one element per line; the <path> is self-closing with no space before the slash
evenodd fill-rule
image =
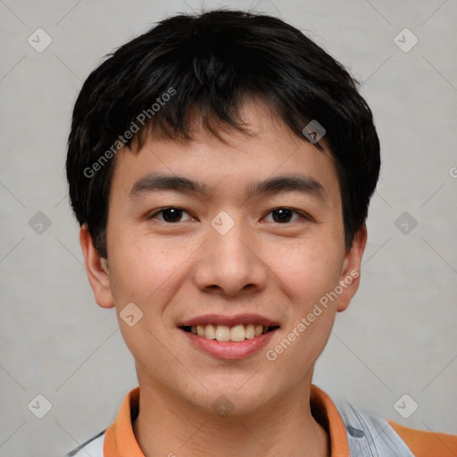
<path id="1" fill-rule="evenodd" d="M 205 292 L 253 294 L 266 287 L 268 270 L 258 237 L 237 220 L 224 235 L 209 228 L 204 249 L 195 262 L 194 281 Z"/>

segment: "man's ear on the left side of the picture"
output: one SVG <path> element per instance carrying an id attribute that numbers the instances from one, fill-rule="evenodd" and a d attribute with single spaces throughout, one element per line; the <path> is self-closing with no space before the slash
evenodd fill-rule
<path id="1" fill-rule="evenodd" d="M 94 291 L 96 303 L 102 308 L 114 307 L 108 262 L 96 250 L 87 224 L 82 225 L 79 229 L 79 243 L 84 253 L 87 278 Z"/>

